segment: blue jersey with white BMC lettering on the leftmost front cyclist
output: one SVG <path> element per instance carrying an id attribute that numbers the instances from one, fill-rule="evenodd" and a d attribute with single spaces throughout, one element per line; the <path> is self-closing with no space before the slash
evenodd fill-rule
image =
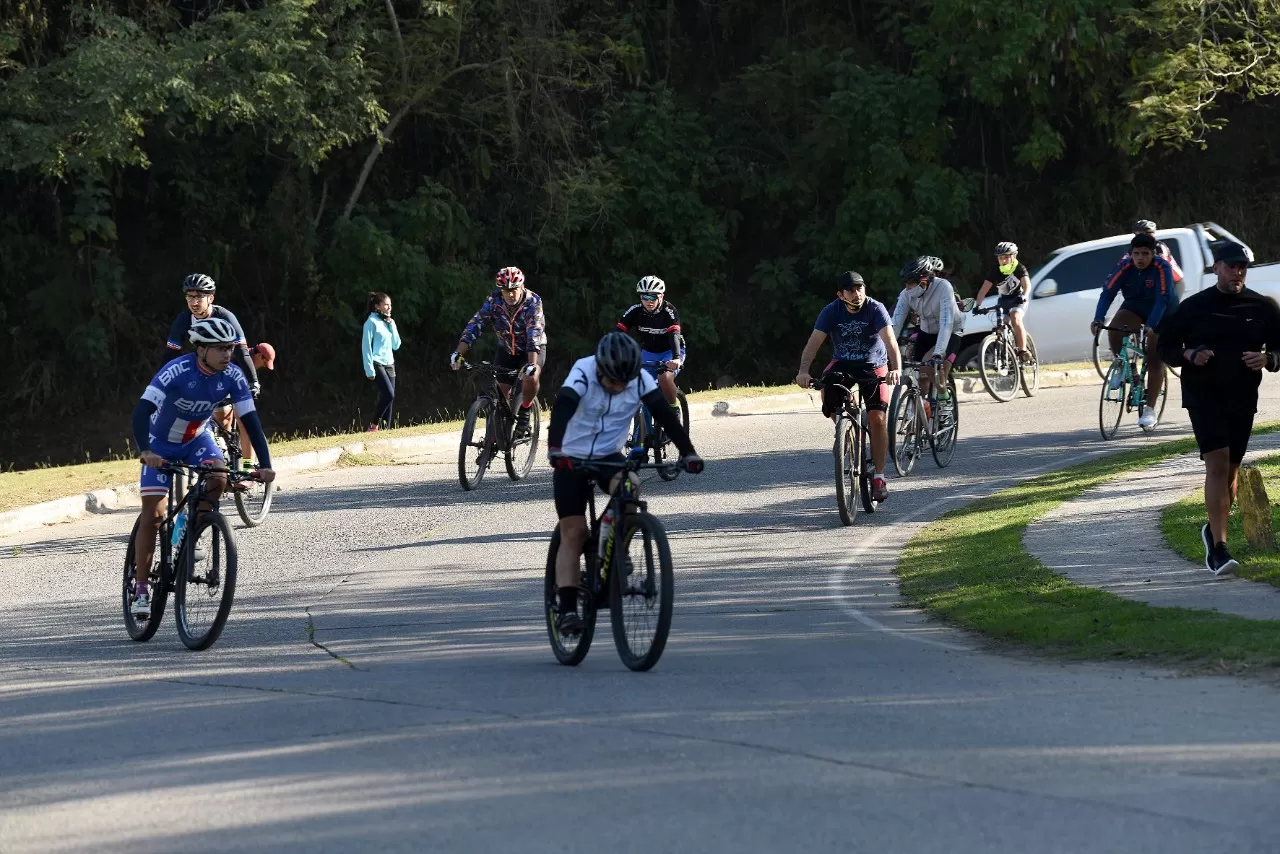
<path id="1" fill-rule="evenodd" d="M 156 406 L 151 416 L 151 440 L 170 446 L 191 442 L 204 431 L 214 408 L 228 394 L 241 419 L 255 410 L 248 380 L 236 365 L 210 374 L 196 353 L 174 359 L 142 392 L 142 399 Z"/>

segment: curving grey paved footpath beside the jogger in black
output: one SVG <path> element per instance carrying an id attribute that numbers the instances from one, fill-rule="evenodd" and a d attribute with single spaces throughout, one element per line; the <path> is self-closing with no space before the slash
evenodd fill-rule
<path id="1" fill-rule="evenodd" d="M 1249 458 L 1274 453 L 1280 434 L 1254 438 Z M 1204 483 L 1196 453 L 1108 480 L 1027 526 L 1027 551 L 1076 584 L 1156 606 L 1280 620 L 1280 588 L 1217 577 L 1165 544 L 1160 516 Z"/>

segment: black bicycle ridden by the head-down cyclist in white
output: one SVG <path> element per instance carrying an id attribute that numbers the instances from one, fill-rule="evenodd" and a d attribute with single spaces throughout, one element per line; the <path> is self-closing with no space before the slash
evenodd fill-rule
<path id="1" fill-rule="evenodd" d="M 675 571 L 671 565 L 667 529 L 649 512 L 649 504 L 635 497 L 630 475 L 658 466 L 643 462 L 639 457 L 630 457 L 623 462 L 575 458 L 573 466 L 586 470 L 599 483 L 608 483 L 620 471 L 622 478 L 599 516 L 595 515 L 595 489 L 588 490 L 588 519 L 591 520 L 591 529 L 582 544 L 584 560 L 579 581 L 582 634 L 576 638 L 561 635 L 557 627 L 559 588 L 556 584 L 556 556 L 561 545 L 559 525 L 552 533 L 544 588 L 547 635 L 550 639 L 552 652 L 556 654 L 556 661 L 562 665 L 580 665 L 586 658 L 591 639 L 595 636 L 596 612 L 608 607 L 613 625 L 613 645 L 617 647 L 622 663 L 634 671 L 649 670 L 662 657 L 667 635 L 671 632 L 671 611 L 676 595 Z M 600 525 L 605 513 L 612 513 L 613 524 L 602 549 Z M 644 562 L 643 571 L 639 571 L 640 561 Z"/>

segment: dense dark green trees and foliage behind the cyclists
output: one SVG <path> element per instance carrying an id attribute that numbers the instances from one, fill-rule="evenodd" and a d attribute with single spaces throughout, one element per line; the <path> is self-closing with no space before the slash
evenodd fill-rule
<path id="1" fill-rule="evenodd" d="M 367 406 L 371 289 L 401 412 L 454 408 L 444 357 L 507 264 L 553 376 L 655 273 L 707 385 L 791 375 L 842 269 L 972 283 L 997 238 L 1139 215 L 1266 252 L 1277 47 L 1270 1 L 0 0 L 13 458 L 55 417 L 120 447 L 193 270 L 280 352 L 285 428 Z"/>

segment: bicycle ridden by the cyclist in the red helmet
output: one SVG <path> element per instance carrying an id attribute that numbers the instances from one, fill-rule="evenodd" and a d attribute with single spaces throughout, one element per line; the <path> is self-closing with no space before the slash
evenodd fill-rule
<path id="1" fill-rule="evenodd" d="M 538 442 L 541 435 L 541 407 L 535 402 L 529 407 L 529 433 L 516 435 L 516 407 L 522 394 L 520 375 L 522 370 L 504 370 L 493 362 L 462 362 L 467 371 L 479 371 L 481 388 L 476 399 L 467 408 L 462 423 L 462 438 L 458 442 L 458 480 L 462 488 L 471 490 L 484 480 L 485 471 L 498 452 L 507 463 L 507 476 L 515 481 L 524 480 L 534 467 Z M 503 394 L 500 385 L 509 384 L 511 393 Z"/>

